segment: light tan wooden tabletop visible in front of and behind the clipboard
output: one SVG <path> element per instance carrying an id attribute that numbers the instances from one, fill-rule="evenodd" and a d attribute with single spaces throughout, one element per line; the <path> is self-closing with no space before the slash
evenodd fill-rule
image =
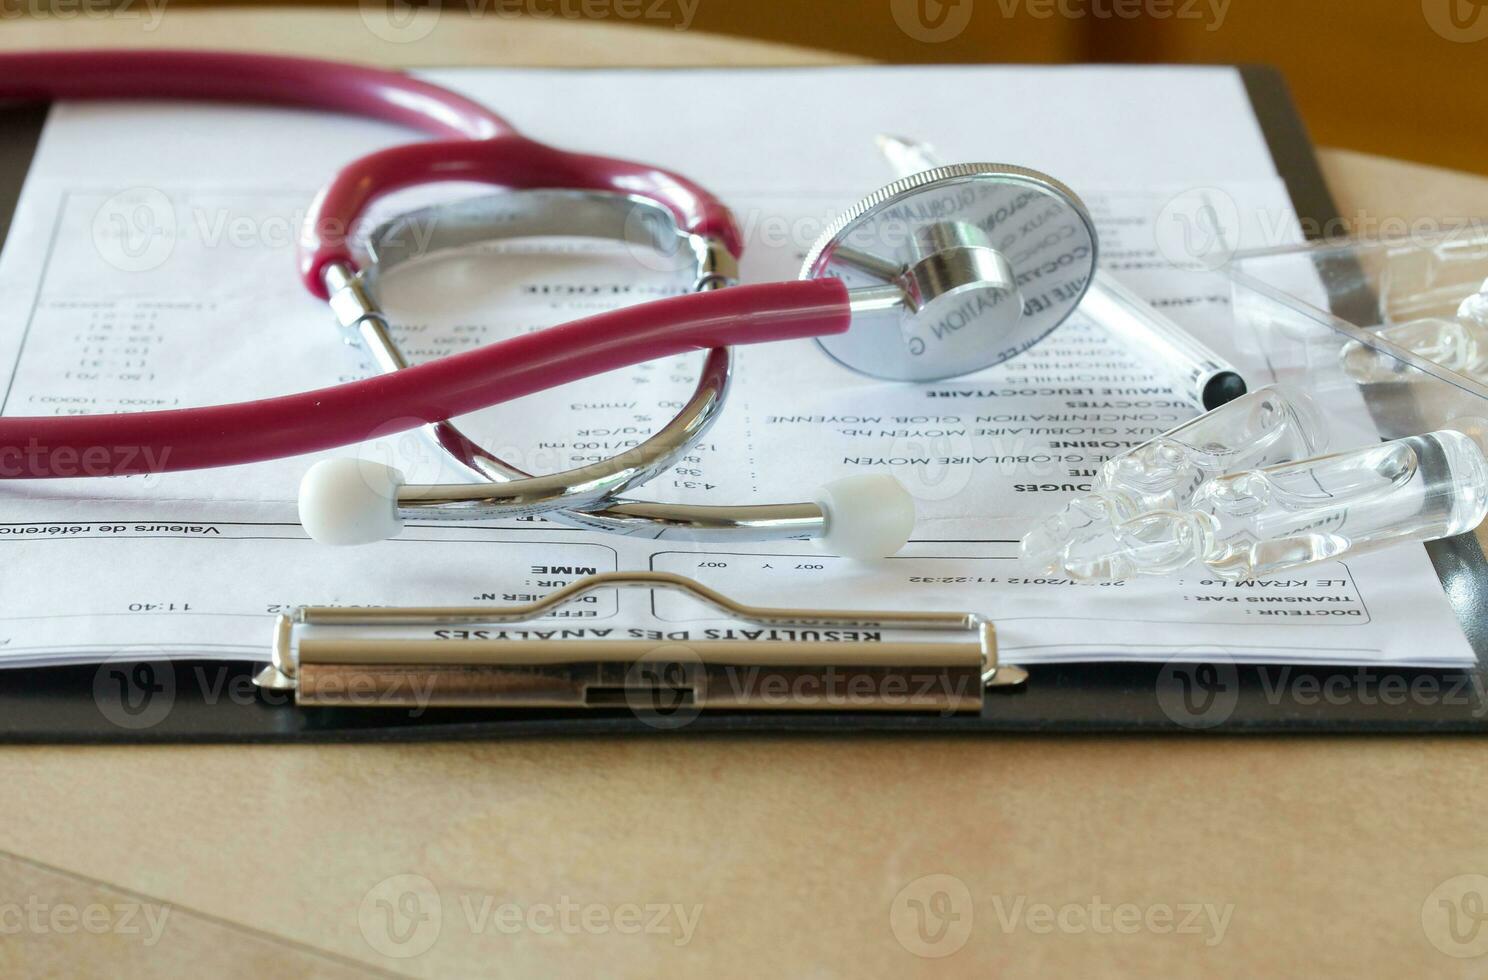
<path id="1" fill-rule="evenodd" d="M 12 21 L 0 49 L 841 61 L 454 18 L 437 46 L 391 45 L 357 21 Z M 1345 214 L 1488 213 L 1488 180 L 1342 152 L 1324 165 Z M 0 970 L 1481 976 L 1482 760 L 1460 738 L 0 748 Z"/>

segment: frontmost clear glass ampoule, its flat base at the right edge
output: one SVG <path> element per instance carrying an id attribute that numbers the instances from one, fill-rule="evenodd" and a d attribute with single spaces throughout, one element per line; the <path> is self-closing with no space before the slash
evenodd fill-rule
<path id="1" fill-rule="evenodd" d="M 1216 477 L 1187 510 L 1141 515 L 1076 543 L 1058 571 L 1119 581 L 1202 564 L 1240 581 L 1472 531 L 1488 516 L 1478 434 L 1488 422 L 1463 430 Z"/>

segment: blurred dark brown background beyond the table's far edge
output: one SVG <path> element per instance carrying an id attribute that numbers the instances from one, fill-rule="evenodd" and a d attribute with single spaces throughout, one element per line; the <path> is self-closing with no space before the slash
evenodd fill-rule
<path id="1" fill-rule="evenodd" d="M 695 27 L 881 61 L 1274 64 L 1318 143 L 1488 173 L 1484 0 L 701 0 Z"/>

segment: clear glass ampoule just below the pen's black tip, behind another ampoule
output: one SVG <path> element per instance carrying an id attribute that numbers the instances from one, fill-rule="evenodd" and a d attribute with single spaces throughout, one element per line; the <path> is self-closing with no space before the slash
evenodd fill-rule
<path id="1" fill-rule="evenodd" d="M 1271 385 L 1207 412 L 1101 465 L 1091 492 L 1045 518 L 1022 556 L 1055 567 L 1074 541 L 1153 510 L 1180 510 L 1205 480 L 1303 460 L 1327 448 L 1327 427 L 1302 391 Z"/>

